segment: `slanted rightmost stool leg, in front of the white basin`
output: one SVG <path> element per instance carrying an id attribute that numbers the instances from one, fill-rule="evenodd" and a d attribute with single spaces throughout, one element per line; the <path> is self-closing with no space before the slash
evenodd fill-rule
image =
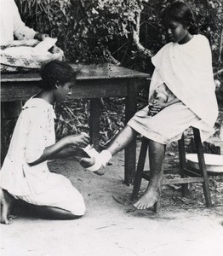
<path id="1" fill-rule="evenodd" d="M 205 197 L 207 207 L 212 207 L 210 189 L 209 189 L 209 177 L 203 156 L 203 144 L 201 142 L 200 131 L 193 127 L 194 143 L 197 148 L 197 157 L 199 162 L 200 171 L 203 174 L 203 194 Z"/>

